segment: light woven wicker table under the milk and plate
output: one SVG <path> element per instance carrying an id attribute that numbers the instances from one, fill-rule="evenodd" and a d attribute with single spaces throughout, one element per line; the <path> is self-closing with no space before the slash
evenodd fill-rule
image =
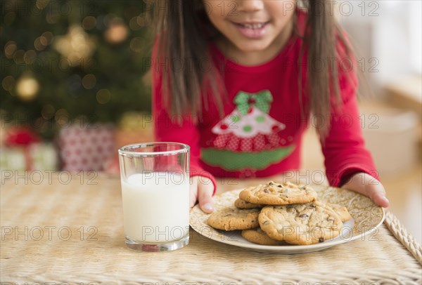
<path id="1" fill-rule="evenodd" d="M 15 174 L 2 173 L 1 282 L 422 282 L 421 246 L 391 213 L 373 238 L 314 253 L 257 253 L 212 241 L 193 231 L 190 244 L 181 250 L 140 253 L 124 244 L 118 178 L 103 173 Z M 222 181 L 219 192 L 250 183 L 257 180 Z"/>

